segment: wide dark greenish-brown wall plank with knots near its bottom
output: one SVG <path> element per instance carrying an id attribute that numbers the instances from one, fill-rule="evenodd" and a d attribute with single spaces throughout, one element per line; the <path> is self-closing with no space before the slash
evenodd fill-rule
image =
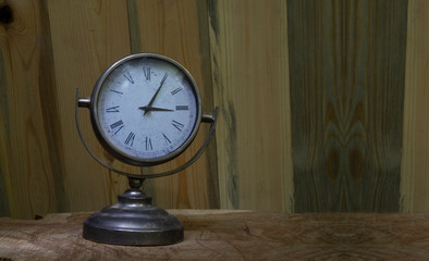
<path id="1" fill-rule="evenodd" d="M 397 211 L 407 1 L 287 1 L 295 210 Z"/>

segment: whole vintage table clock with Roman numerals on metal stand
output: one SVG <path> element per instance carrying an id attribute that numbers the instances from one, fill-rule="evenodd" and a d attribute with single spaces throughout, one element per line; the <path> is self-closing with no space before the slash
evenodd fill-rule
<path id="1" fill-rule="evenodd" d="M 76 126 L 89 154 L 110 171 L 128 177 L 131 188 L 118 203 L 90 215 L 84 238 L 119 245 L 168 245 L 183 240 L 183 225 L 151 204 L 139 189 L 145 178 L 174 174 L 194 163 L 207 148 L 219 109 L 201 112 L 201 98 L 192 75 L 181 64 L 156 53 L 125 57 L 97 80 L 89 98 L 76 95 Z M 77 107 L 88 108 L 94 132 L 102 147 L 124 163 L 148 167 L 173 160 L 194 140 L 201 122 L 211 127 L 195 156 L 163 173 L 131 174 L 98 159 L 86 145 Z"/>

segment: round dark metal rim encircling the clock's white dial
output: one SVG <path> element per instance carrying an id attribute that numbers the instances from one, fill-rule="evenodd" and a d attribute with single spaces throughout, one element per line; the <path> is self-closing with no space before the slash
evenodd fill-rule
<path id="1" fill-rule="evenodd" d="M 187 139 L 180 146 L 177 147 L 175 150 L 173 150 L 172 152 L 162 156 L 162 157 L 157 157 L 157 158 L 139 158 L 139 157 L 134 157 L 131 156 L 128 153 L 125 153 L 122 149 L 120 149 L 118 146 L 115 146 L 114 144 L 110 142 L 109 139 L 107 138 L 106 133 L 102 130 L 102 126 L 99 120 L 99 115 L 98 115 L 98 97 L 99 97 L 99 92 L 103 86 L 103 83 L 106 82 L 106 79 L 108 78 L 108 76 L 119 66 L 121 66 L 122 64 L 131 61 L 131 60 L 135 60 L 135 59 L 142 59 L 142 58 L 151 58 L 151 59 L 159 59 L 162 60 L 163 62 L 170 63 L 173 66 L 177 67 L 180 71 L 183 72 L 183 74 L 187 77 L 187 80 L 191 85 L 191 89 L 193 90 L 194 94 L 194 98 L 195 98 L 195 102 L 196 102 L 196 107 L 197 107 L 197 111 L 196 111 L 196 121 L 194 123 L 193 126 L 193 130 L 191 132 L 189 136 L 187 137 Z M 174 158 L 179 157 L 180 154 L 182 154 L 192 144 L 192 141 L 195 139 L 200 123 L 201 123 L 201 97 L 199 94 L 199 89 L 198 86 L 195 82 L 195 79 L 193 78 L 193 76 L 191 75 L 191 73 L 179 62 L 174 61 L 171 58 L 168 58 L 166 55 L 162 54 L 158 54 L 158 53 L 135 53 L 135 54 L 131 54 L 127 57 L 124 57 L 120 60 L 118 60 L 117 62 L 114 62 L 112 65 L 110 65 L 98 78 L 93 94 L 91 94 L 91 98 L 90 98 L 90 105 L 89 105 L 89 111 L 90 111 L 90 121 L 91 121 L 91 125 L 93 125 L 93 129 L 94 133 L 96 134 L 96 137 L 98 139 L 98 141 L 101 144 L 101 146 L 108 150 L 110 153 L 112 153 L 115 158 L 118 158 L 119 160 L 121 160 L 124 163 L 128 163 L 132 165 L 138 165 L 138 166 L 150 166 L 150 165 L 157 165 L 157 164 L 162 164 L 167 161 L 173 160 Z"/>

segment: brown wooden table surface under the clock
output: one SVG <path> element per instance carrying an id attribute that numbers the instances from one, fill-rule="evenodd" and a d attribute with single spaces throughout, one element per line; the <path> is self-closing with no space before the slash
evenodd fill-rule
<path id="1" fill-rule="evenodd" d="M 89 213 L 0 219 L 0 261 L 429 260 L 429 214 L 284 214 L 170 210 L 183 243 L 103 245 L 82 238 Z"/>

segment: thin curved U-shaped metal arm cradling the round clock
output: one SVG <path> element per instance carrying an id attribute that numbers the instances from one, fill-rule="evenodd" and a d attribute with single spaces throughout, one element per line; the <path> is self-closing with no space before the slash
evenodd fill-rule
<path id="1" fill-rule="evenodd" d="M 93 151 L 90 151 L 90 149 L 88 148 L 88 146 L 86 145 L 84 137 L 82 135 L 81 132 L 81 127 L 78 124 L 78 113 L 77 113 L 77 109 L 78 107 L 89 107 L 90 101 L 87 98 L 84 99 L 79 99 L 78 98 L 79 95 L 79 89 L 76 89 L 76 102 L 75 102 L 75 121 L 76 121 L 76 128 L 77 128 L 77 133 L 79 135 L 79 138 L 86 149 L 86 151 L 88 151 L 88 153 L 93 157 L 93 159 L 95 159 L 99 164 L 101 164 L 102 166 L 107 167 L 109 171 L 115 172 L 118 174 L 131 177 L 131 178 L 137 178 L 137 179 L 144 179 L 144 178 L 152 178 L 152 177 L 162 177 L 162 176 L 169 176 L 172 175 L 174 173 L 181 172 L 183 170 L 185 170 L 186 167 L 191 166 L 196 160 L 198 160 L 198 158 L 204 153 L 204 151 L 206 150 L 206 148 L 208 147 L 210 139 L 212 138 L 213 134 L 214 134 L 214 129 L 216 129 L 216 124 L 218 122 L 218 115 L 219 115 L 219 107 L 217 107 L 214 109 L 213 114 L 208 114 L 208 113 L 204 113 L 203 114 L 203 119 L 201 122 L 206 122 L 206 123 L 211 123 L 209 133 L 206 137 L 206 140 L 204 141 L 204 144 L 201 145 L 201 147 L 199 148 L 199 150 L 194 154 L 193 158 L 191 158 L 185 164 L 173 169 L 171 171 L 167 171 L 167 172 L 162 172 L 162 173 L 154 173 L 154 174 L 132 174 L 132 173 L 127 173 L 127 172 L 123 172 L 120 171 L 118 169 L 114 169 L 108 164 L 106 164 L 105 162 L 102 162 L 100 159 L 98 159 Z"/>

